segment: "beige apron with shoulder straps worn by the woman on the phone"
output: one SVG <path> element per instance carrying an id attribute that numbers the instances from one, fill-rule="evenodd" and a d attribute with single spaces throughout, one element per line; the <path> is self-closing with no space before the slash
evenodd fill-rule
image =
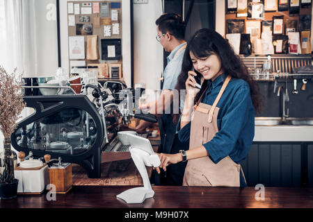
<path id="1" fill-rule="evenodd" d="M 227 76 L 213 105 L 200 103 L 207 90 L 202 93 L 193 112 L 189 149 L 202 146 L 218 133 L 217 117 L 219 108 L 216 105 L 230 79 L 231 77 Z M 240 187 L 240 171 L 242 172 L 240 164 L 236 164 L 229 156 L 220 160 L 217 164 L 212 162 L 208 156 L 188 160 L 183 186 Z"/>

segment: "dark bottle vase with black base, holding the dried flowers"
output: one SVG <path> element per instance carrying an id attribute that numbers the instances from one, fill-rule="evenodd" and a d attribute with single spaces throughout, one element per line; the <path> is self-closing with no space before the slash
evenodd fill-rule
<path id="1" fill-rule="evenodd" d="M 5 138 L 0 153 L 0 198 L 11 199 L 17 196 L 18 180 L 14 177 L 17 155 L 11 150 L 10 138 Z"/>

